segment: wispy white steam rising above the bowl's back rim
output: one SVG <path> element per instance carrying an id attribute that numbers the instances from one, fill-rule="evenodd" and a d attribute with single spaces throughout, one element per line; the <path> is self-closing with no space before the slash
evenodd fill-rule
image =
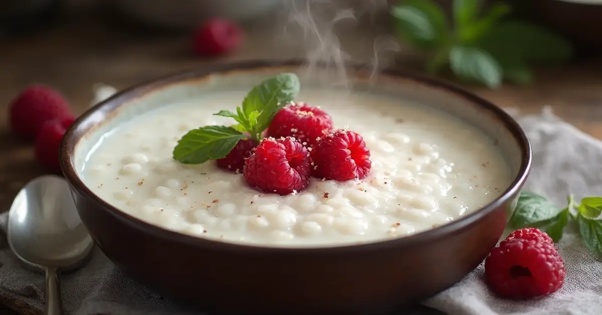
<path id="1" fill-rule="evenodd" d="M 353 80 L 345 64 L 360 63 L 368 67 L 373 81 L 379 69 L 391 66 L 394 52 L 400 51 L 394 37 L 369 32 L 383 27 L 385 22 L 377 14 L 386 14 L 387 7 L 386 0 L 290 0 L 285 34 L 302 42 L 308 60 L 304 75 L 319 80 L 322 87 L 350 90 Z M 300 36 L 292 35 L 290 28 L 300 28 Z M 338 34 L 346 34 L 341 38 L 347 39 L 347 49 Z M 320 64 L 330 70 L 324 72 Z M 318 70 L 319 76 L 314 73 Z"/>

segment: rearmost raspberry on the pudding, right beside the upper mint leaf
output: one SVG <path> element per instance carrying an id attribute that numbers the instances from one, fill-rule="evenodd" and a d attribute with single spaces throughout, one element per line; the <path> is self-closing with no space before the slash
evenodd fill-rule
<path id="1" fill-rule="evenodd" d="M 278 111 L 268 127 L 270 137 L 294 137 L 313 146 L 318 137 L 332 129 L 332 119 L 318 107 L 304 103 L 291 104 Z"/>

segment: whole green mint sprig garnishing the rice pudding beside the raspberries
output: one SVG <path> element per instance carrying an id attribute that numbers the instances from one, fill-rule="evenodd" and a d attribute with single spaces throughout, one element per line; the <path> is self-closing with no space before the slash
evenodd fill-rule
<path id="1" fill-rule="evenodd" d="M 261 133 L 270 125 L 276 112 L 299 94 L 299 78 L 294 73 L 281 73 L 253 87 L 236 108 L 236 113 L 221 110 L 214 115 L 231 117 L 232 126 L 202 126 L 188 131 L 173 149 L 173 159 L 184 164 L 201 164 L 224 158 L 239 140 L 249 138 L 261 142 Z"/>

